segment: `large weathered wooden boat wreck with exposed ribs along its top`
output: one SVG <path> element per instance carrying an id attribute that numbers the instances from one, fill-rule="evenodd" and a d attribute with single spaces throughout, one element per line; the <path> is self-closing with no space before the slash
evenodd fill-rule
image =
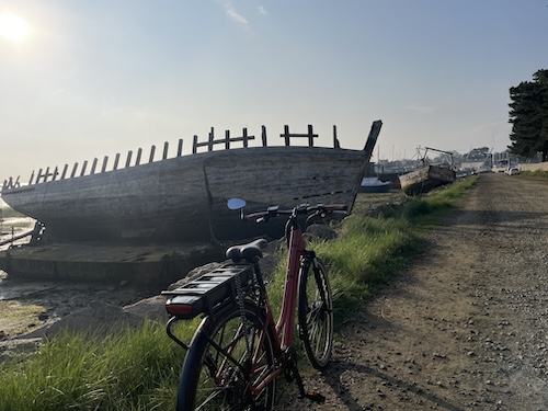
<path id="1" fill-rule="evenodd" d="M 352 209 L 359 185 L 380 132 L 381 122 L 373 123 L 363 150 L 340 148 L 334 128 L 334 147 L 315 147 L 318 137 L 308 134 L 281 136 L 285 146 L 266 146 L 262 129 L 262 146 L 249 147 L 253 136 L 243 130 L 241 137 L 216 140 L 214 130 L 206 142 L 194 138 L 193 153 L 183 156 L 182 140 L 178 156 L 140 164 L 141 151 L 135 164 L 128 153 L 126 167 L 106 170 L 105 157 L 100 172 L 98 160 L 90 171 L 87 163 L 52 172 L 42 170 L 28 184 L 19 179 L 4 181 L 2 199 L 15 210 L 39 221 L 38 235 L 49 241 L 132 241 L 158 243 L 168 241 L 224 240 L 261 235 L 265 226 L 239 219 L 230 212 L 227 199 L 244 198 L 248 209 L 270 205 L 293 207 L 298 203 L 339 203 Z M 290 146 L 290 138 L 307 137 L 309 145 Z M 231 148 L 233 142 L 243 147 Z M 214 150 L 224 145 L 225 149 Z M 199 147 L 207 151 L 197 152 Z M 39 231 L 39 232 L 38 232 Z M 277 229 L 279 231 L 279 229 Z"/>

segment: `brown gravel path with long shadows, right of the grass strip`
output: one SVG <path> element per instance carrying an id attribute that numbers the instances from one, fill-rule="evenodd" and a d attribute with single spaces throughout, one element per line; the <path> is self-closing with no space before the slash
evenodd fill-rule
<path id="1" fill-rule="evenodd" d="M 547 232 L 548 181 L 480 175 L 277 409 L 548 410 Z"/>

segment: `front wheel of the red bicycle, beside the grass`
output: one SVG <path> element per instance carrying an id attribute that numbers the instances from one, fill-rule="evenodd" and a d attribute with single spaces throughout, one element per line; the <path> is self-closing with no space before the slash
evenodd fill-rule
<path id="1" fill-rule="evenodd" d="M 299 333 L 312 367 L 323 369 L 333 349 L 333 297 L 323 263 L 315 258 L 299 277 Z"/>

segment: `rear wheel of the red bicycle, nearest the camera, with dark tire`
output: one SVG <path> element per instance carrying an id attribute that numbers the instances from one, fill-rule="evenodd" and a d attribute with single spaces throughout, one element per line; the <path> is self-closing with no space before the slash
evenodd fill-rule
<path id="1" fill-rule="evenodd" d="M 251 362 L 244 361 L 248 344 L 239 326 L 242 318 L 246 318 L 246 324 L 249 327 L 249 349 L 251 353 L 256 352 L 265 323 L 265 316 L 258 312 L 256 305 L 246 302 L 243 311 L 238 305 L 231 305 L 215 318 L 204 319 L 183 364 L 178 390 L 178 411 L 272 410 L 275 379 L 258 396 L 247 389 L 251 379 L 260 380 L 274 364 L 274 331 L 271 327 L 266 328 L 259 367 L 253 374 L 250 372 Z M 225 353 L 212 345 L 212 341 L 224 349 Z M 228 349 L 231 350 L 231 359 L 227 355 Z"/>

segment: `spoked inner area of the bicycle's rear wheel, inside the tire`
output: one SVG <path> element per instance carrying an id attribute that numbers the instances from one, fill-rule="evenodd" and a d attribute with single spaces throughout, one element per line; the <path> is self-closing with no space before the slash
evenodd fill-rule
<path id="1" fill-rule="evenodd" d="M 269 376 L 274 364 L 272 334 L 262 336 L 263 320 L 255 317 L 256 308 L 246 307 L 241 315 L 235 307 L 225 317 L 216 319 L 208 332 L 204 332 L 196 344 L 203 346 L 203 353 L 186 364 L 189 376 L 181 377 L 180 401 L 186 402 L 186 388 L 193 410 L 250 410 L 258 404 L 270 410 L 274 401 L 274 381 L 269 383 L 261 392 L 253 392 Z M 242 319 L 244 323 L 242 323 Z M 253 320 L 252 320 L 253 319 Z M 194 343 L 193 343 L 194 344 Z M 186 406 L 185 406 L 186 407 Z"/>

